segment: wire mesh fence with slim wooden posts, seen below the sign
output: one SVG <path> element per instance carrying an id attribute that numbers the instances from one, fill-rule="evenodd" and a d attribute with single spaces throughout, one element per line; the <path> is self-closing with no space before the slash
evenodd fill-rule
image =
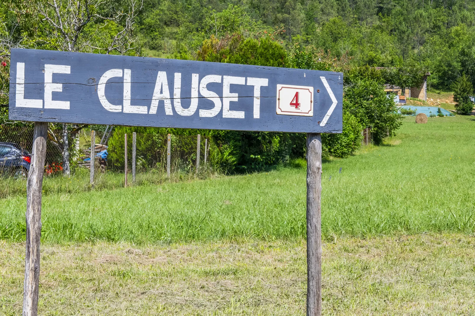
<path id="1" fill-rule="evenodd" d="M 44 177 L 64 174 L 66 164 L 73 176 L 83 176 L 76 177 L 76 181 L 82 181 L 84 186 L 105 186 L 104 181 L 112 181 L 114 186 L 161 183 L 167 178 L 205 177 L 213 172 L 208 163 L 212 148 L 208 138 L 152 133 L 125 136 L 113 131 L 105 143 L 103 133 L 95 132 L 94 141 L 88 127 L 70 133 L 66 155 L 63 130 L 48 128 Z M 27 177 L 32 140 L 32 127 L 1 126 L 0 172 L 4 179 Z M 14 149 L 18 156 L 15 161 L 7 153 Z M 94 150 L 92 183 L 87 177 L 91 173 L 91 149 Z"/>

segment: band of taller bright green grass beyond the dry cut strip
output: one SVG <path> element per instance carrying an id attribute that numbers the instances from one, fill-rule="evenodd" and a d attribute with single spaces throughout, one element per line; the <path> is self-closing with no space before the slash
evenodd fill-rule
<path id="1" fill-rule="evenodd" d="M 383 146 L 323 164 L 323 237 L 475 229 L 471 117 L 404 119 Z M 340 168 L 342 172 L 340 173 Z M 300 239 L 305 167 L 43 198 L 44 242 Z M 25 238 L 24 196 L 0 199 L 0 239 Z"/>

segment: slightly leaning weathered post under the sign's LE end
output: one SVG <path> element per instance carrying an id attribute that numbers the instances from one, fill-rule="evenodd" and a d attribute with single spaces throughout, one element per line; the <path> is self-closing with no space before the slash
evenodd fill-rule
<path id="1" fill-rule="evenodd" d="M 38 315 L 39 242 L 41 237 L 41 190 L 46 159 L 48 123 L 35 122 L 33 150 L 27 180 L 27 242 L 25 281 L 23 283 L 23 316 Z"/>

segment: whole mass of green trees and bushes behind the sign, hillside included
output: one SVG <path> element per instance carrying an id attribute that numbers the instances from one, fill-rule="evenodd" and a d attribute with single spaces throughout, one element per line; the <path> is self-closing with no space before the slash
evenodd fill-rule
<path id="1" fill-rule="evenodd" d="M 474 0 L 3 1 L 0 104 L 8 103 L 12 47 L 339 71 L 343 132 L 323 135 L 323 153 L 343 158 L 360 147 L 362 129 L 371 128 L 376 144 L 398 130 L 401 116 L 384 83 L 418 87 L 430 72 L 430 89 L 452 89 L 457 112 L 472 111 L 474 23 Z M 0 108 L 0 123 L 7 114 Z M 54 128 L 63 138 L 77 132 Z M 227 172 L 304 156 L 304 135 L 160 132 L 211 137 Z"/>

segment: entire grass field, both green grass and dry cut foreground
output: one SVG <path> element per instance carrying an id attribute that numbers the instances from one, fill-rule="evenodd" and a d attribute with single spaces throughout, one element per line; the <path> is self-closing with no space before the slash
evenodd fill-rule
<path id="1" fill-rule="evenodd" d="M 473 117 L 407 117 L 387 144 L 324 161 L 323 315 L 473 314 L 474 132 Z M 305 315 L 305 172 L 46 179 L 39 315 Z M 26 198 L 6 196 L 0 315 L 13 316 Z"/>

